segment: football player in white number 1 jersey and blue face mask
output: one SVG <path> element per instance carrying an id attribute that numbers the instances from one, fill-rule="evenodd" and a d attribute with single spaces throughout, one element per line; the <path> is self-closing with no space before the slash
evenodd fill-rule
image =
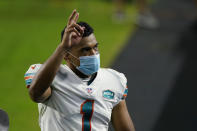
<path id="1" fill-rule="evenodd" d="M 127 80 L 122 73 L 100 68 L 93 29 L 77 23 L 78 17 L 74 10 L 54 53 L 25 74 L 29 95 L 38 103 L 40 128 L 107 131 L 112 121 L 116 131 L 134 131 L 125 103 Z"/>

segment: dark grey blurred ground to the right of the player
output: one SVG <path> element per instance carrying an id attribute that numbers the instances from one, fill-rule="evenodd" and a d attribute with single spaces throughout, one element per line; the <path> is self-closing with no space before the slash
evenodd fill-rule
<path id="1" fill-rule="evenodd" d="M 136 131 L 197 131 L 197 10 L 192 0 L 157 0 L 157 30 L 139 28 L 113 68 L 128 79 Z"/>

